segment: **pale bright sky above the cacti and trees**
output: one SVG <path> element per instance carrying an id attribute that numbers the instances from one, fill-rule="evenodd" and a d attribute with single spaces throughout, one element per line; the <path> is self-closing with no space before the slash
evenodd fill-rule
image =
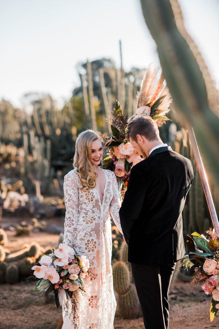
<path id="1" fill-rule="evenodd" d="M 219 2 L 179 0 L 187 31 L 219 86 Z M 0 99 L 45 92 L 61 108 L 78 86 L 77 63 L 112 58 L 123 67 L 159 63 L 139 0 L 0 0 Z"/>

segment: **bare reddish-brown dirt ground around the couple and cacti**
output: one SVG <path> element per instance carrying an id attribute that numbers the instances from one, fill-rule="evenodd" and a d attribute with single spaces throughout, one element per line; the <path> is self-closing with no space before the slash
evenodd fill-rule
<path id="1" fill-rule="evenodd" d="M 16 237 L 14 232 L 10 231 L 7 231 L 7 233 L 10 241 L 8 248 L 10 250 L 18 250 L 23 244 L 32 241 L 37 241 L 44 247 L 47 245 L 56 247 L 58 242 L 58 235 L 46 232 L 35 232 L 26 237 Z M 61 310 L 56 309 L 53 299 L 44 299 L 44 294 L 33 291 L 33 287 L 33 282 L 0 285 L 0 329 L 56 328 Z M 195 287 L 189 283 L 176 280 L 171 285 L 169 301 L 170 329 L 219 328 L 219 316 L 216 316 L 213 323 L 210 323 L 209 307 L 211 297 L 207 296 L 201 290 L 201 287 Z M 154 319 L 156 321 L 156 314 Z M 144 329 L 144 325 L 142 318 L 124 320 L 116 317 L 114 328 Z"/>

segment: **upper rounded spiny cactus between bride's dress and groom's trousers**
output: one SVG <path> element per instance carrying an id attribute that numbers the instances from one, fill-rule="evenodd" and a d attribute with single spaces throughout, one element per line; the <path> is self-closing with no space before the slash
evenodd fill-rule
<path id="1" fill-rule="evenodd" d="M 124 262 L 113 264 L 113 287 L 119 295 L 124 294 L 130 287 L 130 273 Z"/>

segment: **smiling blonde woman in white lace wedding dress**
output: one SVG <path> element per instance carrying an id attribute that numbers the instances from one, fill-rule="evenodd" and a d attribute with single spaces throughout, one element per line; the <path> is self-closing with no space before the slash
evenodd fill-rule
<path id="1" fill-rule="evenodd" d="M 99 136 L 93 130 L 79 134 L 75 169 L 64 177 L 64 243 L 77 255 L 85 255 L 95 276 L 85 281 L 78 316 L 63 313 L 62 329 L 113 329 L 116 299 L 111 267 L 112 237 L 109 212 L 120 226 L 120 196 L 114 172 L 100 168 L 103 156 Z"/>

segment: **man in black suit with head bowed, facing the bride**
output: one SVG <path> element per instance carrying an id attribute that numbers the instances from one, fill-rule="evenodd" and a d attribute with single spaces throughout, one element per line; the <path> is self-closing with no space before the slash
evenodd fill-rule
<path id="1" fill-rule="evenodd" d="M 148 115 L 128 125 L 127 139 L 143 156 L 129 177 L 120 208 L 128 261 L 146 329 L 168 329 L 168 291 L 176 262 L 185 253 L 182 211 L 191 186 L 191 161 L 159 136 Z"/>

